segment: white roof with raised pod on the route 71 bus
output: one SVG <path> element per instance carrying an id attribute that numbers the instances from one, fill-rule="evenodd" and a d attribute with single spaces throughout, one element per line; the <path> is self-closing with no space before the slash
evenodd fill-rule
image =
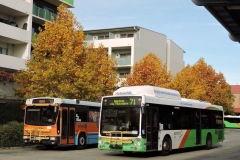
<path id="1" fill-rule="evenodd" d="M 211 109 L 216 108 L 223 110 L 222 106 L 213 105 L 209 102 L 181 98 L 181 95 L 176 90 L 160 88 L 155 86 L 129 86 L 121 87 L 113 93 L 113 96 L 145 96 L 148 103 L 159 103 L 166 105 Z"/>

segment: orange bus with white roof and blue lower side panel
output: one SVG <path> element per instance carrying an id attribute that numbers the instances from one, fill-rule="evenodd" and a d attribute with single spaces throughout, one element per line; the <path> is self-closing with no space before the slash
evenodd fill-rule
<path id="1" fill-rule="evenodd" d="M 39 97 L 26 100 L 25 144 L 75 145 L 78 149 L 98 143 L 100 103 Z"/>

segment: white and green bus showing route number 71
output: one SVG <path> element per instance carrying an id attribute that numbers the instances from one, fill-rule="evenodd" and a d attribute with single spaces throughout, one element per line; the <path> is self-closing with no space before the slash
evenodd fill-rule
<path id="1" fill-rule="evenodd" d="M 178 91 L 131 86 L 102 98 L 98 148 L 124 153 L 205 146 L 224 140 L 223 108 Z"/>

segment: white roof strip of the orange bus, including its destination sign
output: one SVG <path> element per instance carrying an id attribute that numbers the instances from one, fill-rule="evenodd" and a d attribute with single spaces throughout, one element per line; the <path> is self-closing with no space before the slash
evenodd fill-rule
<path id="1" fill-rule="evenodd" d="M 50 101 L 51 100 L 51 101 Z M 36 97 L 26 100 L 26 104 L 39 104 L 39 103 L 51 103 L 51 104 L 75 104 L 75 105 L 91 105 L 100 107 L 100 103 L 81 101 L 79 99 L 65 99 L 65 98 L 54 98 L 54 97 Z"/>

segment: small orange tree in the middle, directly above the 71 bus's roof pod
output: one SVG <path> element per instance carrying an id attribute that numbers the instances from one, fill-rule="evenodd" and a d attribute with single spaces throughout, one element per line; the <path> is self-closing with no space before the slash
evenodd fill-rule
<path id="1" fill-rule="evenodd" d="M 126 76 L 123 86 L 152 85 L 166 87 L 172 75 L 167 66 L 153 53 L 148 53 L 139 62 L 135 63 L 132 72 Z"/>

